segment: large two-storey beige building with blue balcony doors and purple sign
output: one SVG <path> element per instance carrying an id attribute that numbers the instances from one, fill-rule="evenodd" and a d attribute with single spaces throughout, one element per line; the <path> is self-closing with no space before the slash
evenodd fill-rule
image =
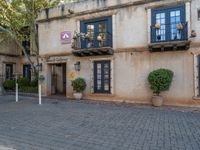
<path id="1" fill-rule="evenodd" d="M 83 0 L 37 21 L 43 95 L 72 97 L 75 74 L 86 99 L 150 103 L 148 74 L 168 68 L 164 103 L 200 104 L 200 0 Z"/>

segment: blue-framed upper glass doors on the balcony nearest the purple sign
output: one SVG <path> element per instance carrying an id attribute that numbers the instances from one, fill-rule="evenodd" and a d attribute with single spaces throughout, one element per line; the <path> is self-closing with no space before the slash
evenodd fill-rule
<path id="1" fill-rule="evenodd" d="M 112 17 L 81 21 L 81 48 L 112 47 Z"/>

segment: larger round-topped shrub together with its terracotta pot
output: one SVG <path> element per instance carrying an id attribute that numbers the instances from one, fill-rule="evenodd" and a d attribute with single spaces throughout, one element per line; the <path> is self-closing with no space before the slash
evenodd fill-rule
<path id="1" fill-rule="evenodd" d="M 160 93 L 170 88 L 173 75 L 173 71 L 163 68 L 150 72 L 148 82 L 154 93 L 152 97 L 152 103 L 154 106 L 162 106 L 163 97 L 160 96 Z"/>

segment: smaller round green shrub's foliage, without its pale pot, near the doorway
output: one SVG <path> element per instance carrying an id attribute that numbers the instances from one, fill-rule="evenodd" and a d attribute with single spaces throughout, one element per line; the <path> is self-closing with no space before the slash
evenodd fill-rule
<path id="1" fill-rule="evenodd" d="M 83 78 L 77 78 L 72 81 L 72 87 L 76 92 L 83 92 L 86 88 L 86 82 Z"/>

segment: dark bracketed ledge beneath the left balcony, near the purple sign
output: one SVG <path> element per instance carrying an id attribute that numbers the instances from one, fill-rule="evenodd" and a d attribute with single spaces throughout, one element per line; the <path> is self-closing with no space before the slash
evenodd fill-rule
<path id="1" fill-rule="evenodd" d="M 73 50 L 72 53 L 74 56 L 87 57 L 87 56 L 113 55 L 114 51 L 112 47 L 101 47 L 101 48 L 77 49 Z"/>

